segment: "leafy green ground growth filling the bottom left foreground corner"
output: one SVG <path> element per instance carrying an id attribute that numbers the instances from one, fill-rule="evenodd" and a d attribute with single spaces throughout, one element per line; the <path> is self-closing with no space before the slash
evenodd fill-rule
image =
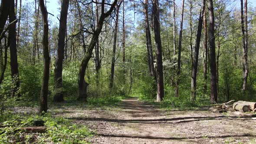
<path id="1" fill-rule="evenodd" d="M 34 121 L 43 121 L 43 125 L 47 127 L 46 133 L 26 133 L 22 129 L 34 126 Z M 73 124 L 65 118 L 53 117 L 51 113 L 44 116 L 11 113 L 0 128 L 0 144 L 88 144 L 87 138 L 94 134 L 84 125 Z"/>

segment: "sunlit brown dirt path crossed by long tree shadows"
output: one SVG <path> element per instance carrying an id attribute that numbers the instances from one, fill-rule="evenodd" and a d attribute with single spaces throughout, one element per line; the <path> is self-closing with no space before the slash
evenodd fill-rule
<path id="1" fill-rule="evenodd" d="M 256 143 L 256 118 L 210 111 L 162 111 L 136 98 L 110 110 L 73 110 L 66 115 L 97 134 L 92 144 Z"/>

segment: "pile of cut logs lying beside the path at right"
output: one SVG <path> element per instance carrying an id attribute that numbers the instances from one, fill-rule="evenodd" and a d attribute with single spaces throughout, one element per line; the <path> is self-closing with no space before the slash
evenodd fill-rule
<path id="1" fill-rule="evenodd" d="M 228 102 L 220 104 L 220 105 L 215 105 L 215 106 L 209 108 L 209 110 L 213 111 L 213 112 L 218 112 L 218 113 L 235 112 L 235 111 L 240 111 L 242 113 L 245 113 L 245 112 L 250 112 L 250 111 L 252 111 L 252 112 L 256 111 L 256 102 L 249 102 L 249 101 L 234 102 L 234 101 L 235 100 L 228 101 Z"/>

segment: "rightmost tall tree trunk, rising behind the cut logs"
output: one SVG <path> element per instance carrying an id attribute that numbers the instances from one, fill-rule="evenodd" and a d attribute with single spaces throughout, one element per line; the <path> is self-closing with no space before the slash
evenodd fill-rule
<path id="1" fill-rule="evenodd" d="M 247 29 L 247 0 L 244 0 L 244 13 L 243 13 L 243 0 L 241 1 L 241 24 L 243 34 L 243 88 L 246 90 L 247 77 L 248 77 L 248 29 Z"/>

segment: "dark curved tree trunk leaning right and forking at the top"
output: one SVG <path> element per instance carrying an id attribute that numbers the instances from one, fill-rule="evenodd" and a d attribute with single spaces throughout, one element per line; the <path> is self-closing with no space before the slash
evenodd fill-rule
<path id="1" fill-rule="evenodd" d="M 92 50 L 95 48 L 96 41 L 98 39 L 99 34 L 101 33 L 103 22 L 104 22 L 105 18 L 108 17 L 112 13 L 117 1 L 118 0 L 114 0 L 114 2 L 111 4 L 110 9 L 105 13 L 104 12 L 105 0 L 102 0 L 101 16 L 99 17 L 99 20 L 98 20 L 98 26 L 96 27 L 96 30 L 94 31 L 94 33 L 92 35 L 92 39 L 89 44 L 88 50 L 86 51 L 86 54 L 85 54 L 84 58 L 82 59 L 82 63 L 80 65 L 80 69 L 79 69 L 79 74 L 78 74 L 79 97 L 78 97 L 78 100 L 87 101 L 87 86 L 89 84 L 85 82 L 85 70 L 89 63 L 89 60 L 92 57 Z"/>

